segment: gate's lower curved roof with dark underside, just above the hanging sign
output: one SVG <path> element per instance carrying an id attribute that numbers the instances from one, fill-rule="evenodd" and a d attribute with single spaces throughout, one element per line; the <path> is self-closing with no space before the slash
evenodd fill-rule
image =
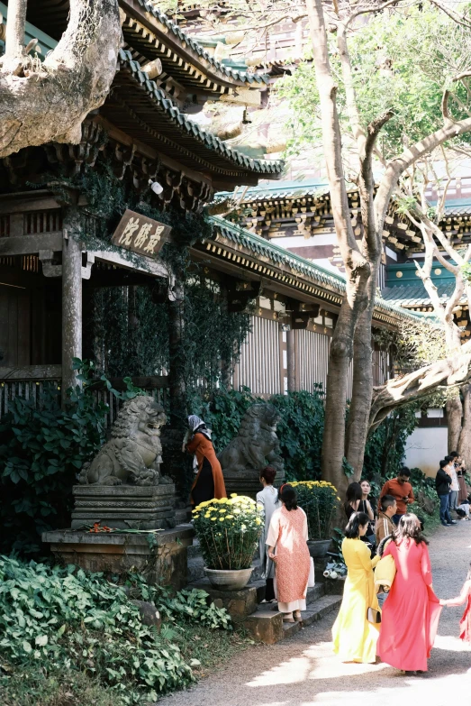
<path id="1" fill-rule="evenodd" d="M 149 80 L 130 51 L 120 50 L 119 64 L 120 71 L 100 113 L 124 132 L 200 170 L 203 166 L 210 172 L 256 174 L 266 179 L 276 179 L 283 170 L 282 161 L 252 160 L 188 120 Z"/>

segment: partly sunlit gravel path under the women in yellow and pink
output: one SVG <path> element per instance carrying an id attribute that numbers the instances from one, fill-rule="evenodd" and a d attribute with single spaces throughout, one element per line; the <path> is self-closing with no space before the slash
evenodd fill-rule
<path id="1" fill-rule="evenodd" d="M 439 527 L 430 541 L 433 587 L 457 595 L 471 561 L 471 522 Z M 274 646 L 254 646 L 159 706 L 448 706 L 469 703 L 471 652 L 458 640 L 463 607 L 444 608 L 427 678 L 388 665 L 341 664 L 331 652 L 335 614 Z"/>

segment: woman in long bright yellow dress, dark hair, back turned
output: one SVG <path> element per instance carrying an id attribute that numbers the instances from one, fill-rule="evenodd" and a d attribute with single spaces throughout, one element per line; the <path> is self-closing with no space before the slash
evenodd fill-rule
<path id="1" fill-rule="evenodd" d="M 368 622 L 368 609 L 379 610 L 373 569 L 379 557 L 371 559 L 367 545 L 361 541 L 368 527 L 368 516 L 356 512 L 349 518 L 342 542 L 347 564 L 340 612 L 332 628 L 333 651 L 342 662 L 376 662 L 379 625 Z"/>

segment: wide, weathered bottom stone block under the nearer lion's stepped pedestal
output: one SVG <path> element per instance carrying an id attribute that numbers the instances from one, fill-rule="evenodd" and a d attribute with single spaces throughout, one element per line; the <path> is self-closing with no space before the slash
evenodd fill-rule
<path id="1" fill-rule="evenodd" d="M 157 533 L 155 544 L 149 535 L 97 534 L 72 529 L 44 532 L 42 541 L 50 544 L 63 564 L 76 564 L 86 571 L 117 573 L 131 568 L 148 582 L 173 586 L 177 591 L 187 583 L 187 547 L 193 542 L 193 527 L 181 526 Z"/>

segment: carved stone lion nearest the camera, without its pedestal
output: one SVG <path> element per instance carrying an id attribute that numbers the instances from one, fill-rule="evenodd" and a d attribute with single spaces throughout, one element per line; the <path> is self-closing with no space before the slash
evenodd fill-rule
<path id="1" fill-rule="evenodd" d="M 111 439 L 80 472 L 79 483 L 90 485 L 159 485 L 164 408 L 151 397 L 129 399 L 113 424 Z"/>

